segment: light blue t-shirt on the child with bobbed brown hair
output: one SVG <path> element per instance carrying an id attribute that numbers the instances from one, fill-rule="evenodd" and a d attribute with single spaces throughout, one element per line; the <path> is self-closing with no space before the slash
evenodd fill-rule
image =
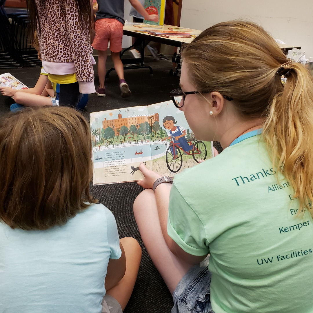
<path id="1" fill-rule="evenodd" d="M 102 204 L 48 230 L 0 222 L 0 312 L 100 313 L 109 259 L 121 253 L 115 218 Z"/>

